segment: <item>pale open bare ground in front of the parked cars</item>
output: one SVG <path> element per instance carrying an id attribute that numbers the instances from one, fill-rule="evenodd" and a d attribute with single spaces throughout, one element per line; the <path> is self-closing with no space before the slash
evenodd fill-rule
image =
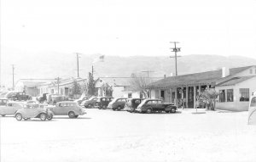
<path id="1" fill-rule="evenodd" d="M 247 112 L 86 111 L 51 121 L 0 117 L 1 161 L 256 161 L 256 126 L 247 126 Z"/>

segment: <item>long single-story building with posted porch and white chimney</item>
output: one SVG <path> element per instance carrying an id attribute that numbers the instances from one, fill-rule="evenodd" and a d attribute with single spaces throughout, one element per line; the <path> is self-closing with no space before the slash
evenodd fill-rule
<path id="1" fill-rule="evenodd" d="M 256 91 L 255 83 L 253 85 L 255 75 L 255 65 L 222 68 L 167 77 L 149 84 L 148 89 L 150 98 L 162 98 L 165 102 L 175 103 L 183 99 L 187 108 L 195 108 L 196 97 L 208 88 L 215 88 L 219 92 L 216 109 L 247 110 L 247 98 L 251 96 L 251 92 Z M 233 100 L 228 100 L 228 95 L 233 96 Z M 241 98 L 246 99 L 240 101 Z"/>

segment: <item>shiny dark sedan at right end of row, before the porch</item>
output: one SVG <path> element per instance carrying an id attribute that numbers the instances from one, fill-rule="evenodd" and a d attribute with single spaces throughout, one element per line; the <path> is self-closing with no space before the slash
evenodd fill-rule
<path id="1" fill-rule="evenodd" d="M 145 99 L 137 106 L 139 113 L 152 113 L 154 111 L 165 111 L 166 113 L 175 113 L 177 106 L 175 103 L 162 103 L 160 99 Z"/>

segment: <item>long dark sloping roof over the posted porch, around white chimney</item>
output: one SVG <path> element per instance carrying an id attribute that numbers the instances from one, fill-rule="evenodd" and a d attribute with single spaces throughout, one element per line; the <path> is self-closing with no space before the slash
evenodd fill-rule
<path id="1" fill-rule="evenodd" d="M 253 66 L 232 68 L 230 69 L 230 75 L 235 75 L 243 70 L 247 70 L 250 67 L 253 67 Z M 160 81 L 155 81 L 149 84 L 148 88 L 152 89 L 152 88 L 185 87 L 185 86 L 215 84 L 215 82 L 221 78 L 222 78 L 222 70 L 212 70 L 212 71 L 206 71 L 201 73 L 167 77 Z"/>

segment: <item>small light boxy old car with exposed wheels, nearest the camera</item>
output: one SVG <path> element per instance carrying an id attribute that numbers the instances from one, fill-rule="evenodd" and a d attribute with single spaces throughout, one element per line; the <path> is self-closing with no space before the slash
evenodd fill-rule
<path id="1" fill-rule="evenodd" d="M 16 120 L 30 120 L 31 118 L 40 118 L 40 120 L 51 120 L 53 113 L 46 109 L 47 104 L 44 103 L 29 103 L 25 104 L 22 109 L 15 113 Z"/>

